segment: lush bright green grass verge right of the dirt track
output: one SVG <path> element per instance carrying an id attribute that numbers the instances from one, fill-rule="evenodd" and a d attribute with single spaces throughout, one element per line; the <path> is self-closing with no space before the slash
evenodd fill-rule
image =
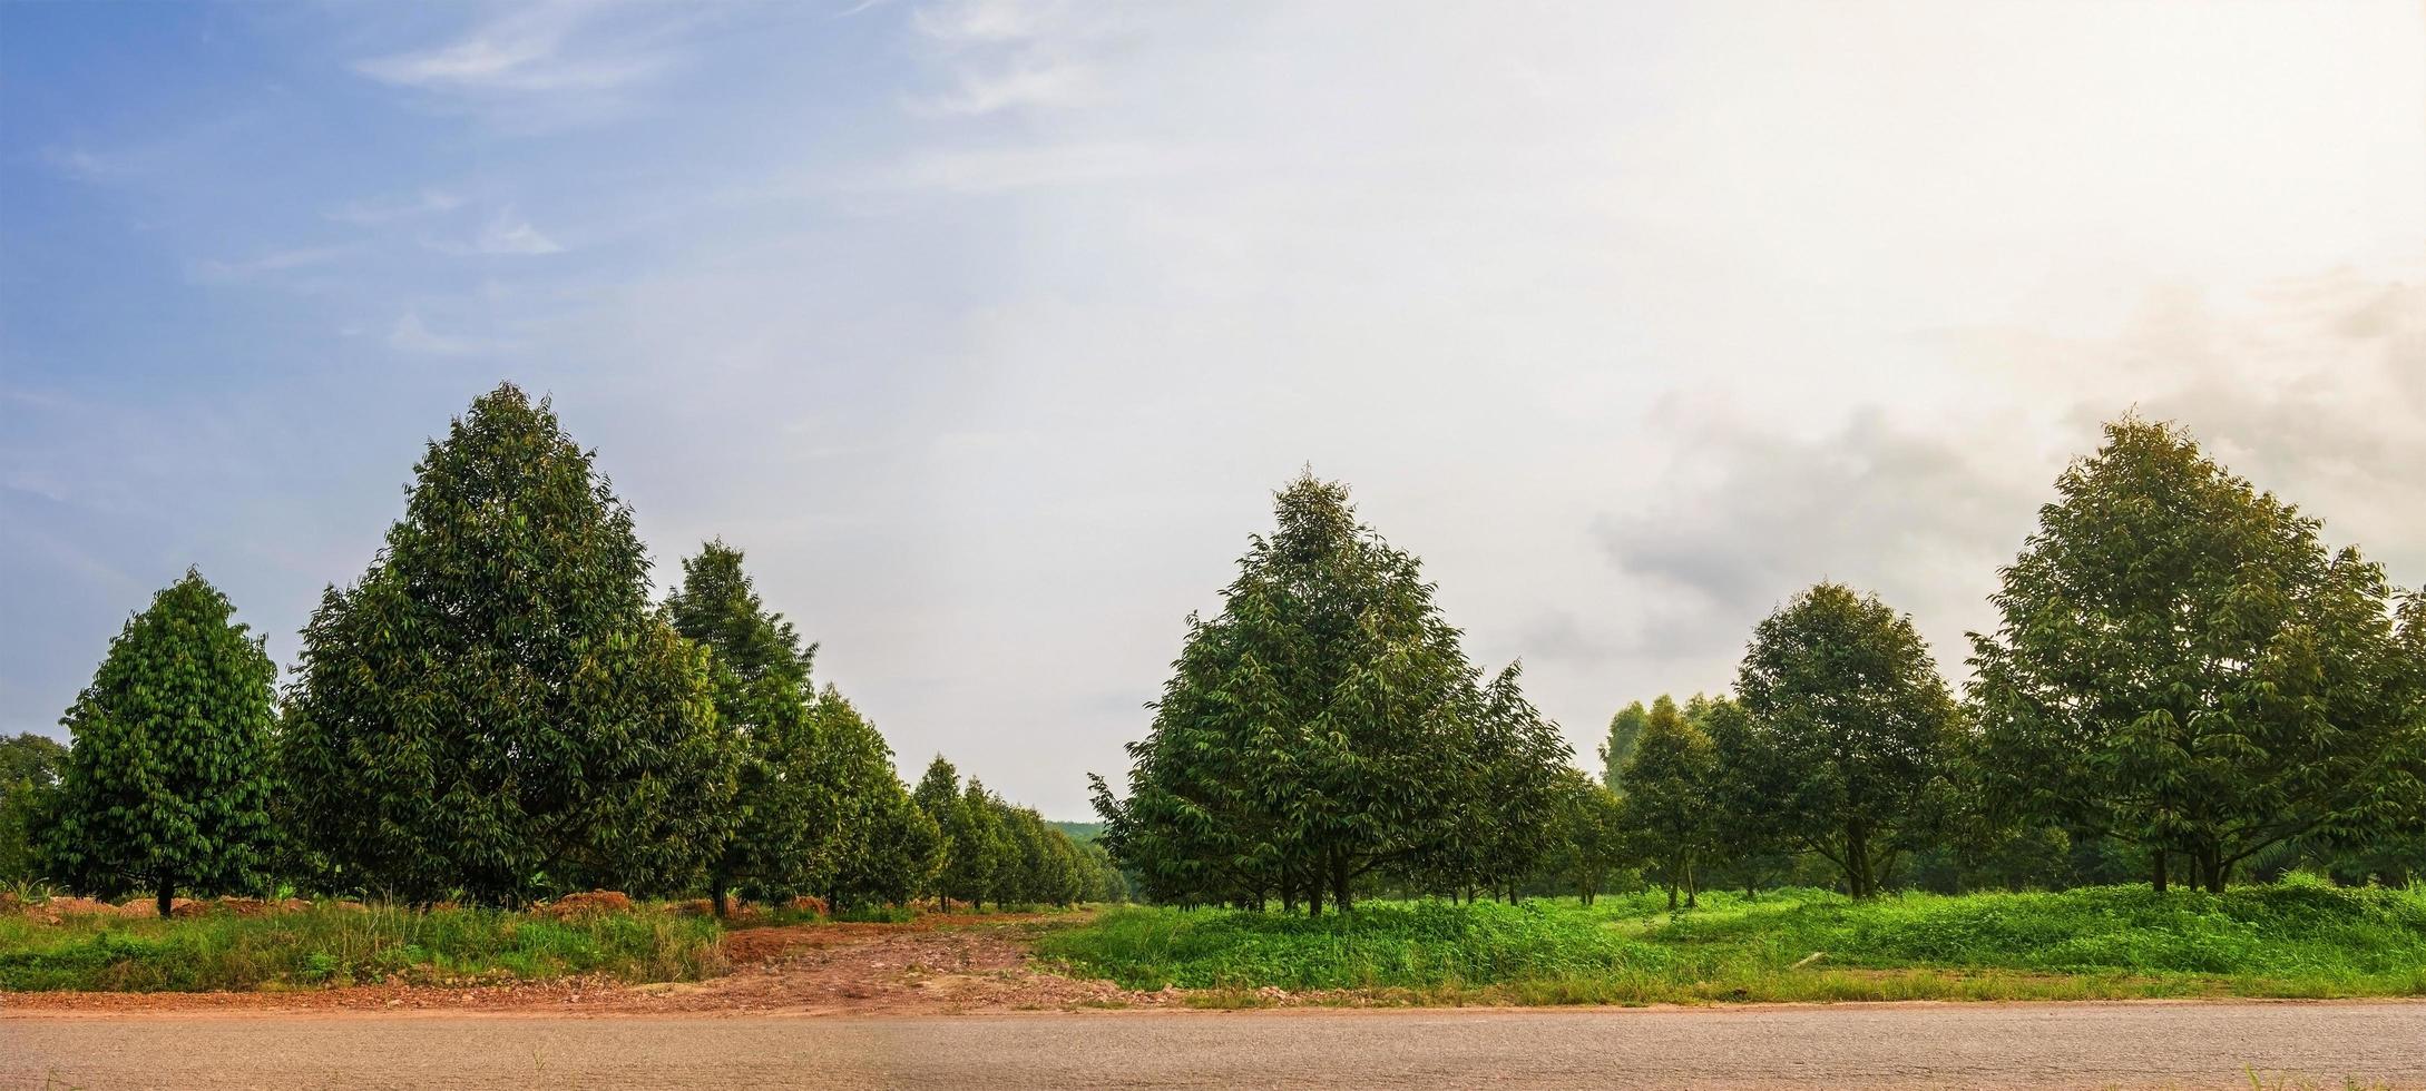
<path id="1" fill-rule="evenodd" d="M 1684 914 L 1655 895 L 1325 919 L 1133 907 L 1046 936 L 1038 955 L 1225 1006 L 1266 987 L 1356 1004 L 2426 996 L 2426 887 L 1710 892 Z"/>

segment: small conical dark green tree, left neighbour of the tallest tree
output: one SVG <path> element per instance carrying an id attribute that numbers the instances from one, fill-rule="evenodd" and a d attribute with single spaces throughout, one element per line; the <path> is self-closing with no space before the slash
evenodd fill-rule
<path id="1" fill-rule="evenodd" d="M 109 642 L 61 720 L 75 737 L 44 873 L 114 897 L 252 890 L 269 863 L 277 667 L 187 570 Z M 12 793 L 15 795 L 15 793 Z"/>

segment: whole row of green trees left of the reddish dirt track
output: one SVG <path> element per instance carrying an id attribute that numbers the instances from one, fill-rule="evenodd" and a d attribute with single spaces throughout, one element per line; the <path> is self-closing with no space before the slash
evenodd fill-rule
<path id="1" fill-rule="evenodd" d="M 187 572 L 112 642 L 56 776 L 19 778 L 0 817 L 24 812 L 29 873 L 163 914 L 274 882 L 718 912 L 730 892 L 1121 897 L 1101 851 L 941 759 L 912 795 L 813 657 L 725 543 L 650 604 L 631 509 L 543 400 L 500 385 L 429 444 L 371 570 L 325 592 L 284 701 L 262 640 Z"/>

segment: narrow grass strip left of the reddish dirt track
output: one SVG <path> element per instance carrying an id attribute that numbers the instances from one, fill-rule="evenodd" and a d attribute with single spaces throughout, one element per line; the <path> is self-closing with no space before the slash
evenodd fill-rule
<path id="1" fill-rule="evenodd" d="M 708 919 L 640 909 L 565 921 L 500 909 L 342 909 L 272 916 L 0 919 L 0 989 L 211 992 L 454 984 L 614 975 L 631 982 L 723 972 Z"/>

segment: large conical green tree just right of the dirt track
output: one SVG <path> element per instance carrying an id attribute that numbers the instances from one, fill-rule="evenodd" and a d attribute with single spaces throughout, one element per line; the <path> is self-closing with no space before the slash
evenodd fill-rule
<path id="1" fill-rule="evenodd" d="M 1410 553 L 1300 475 L 1133 742 L 1128 798 L 1094 778 L 1111 856 L 1167 902 L 1346 909 L 1359 882 L 1526 873 L 1565 742 L 1490 691 Z M 1543 756 L 1555 759 L 1543 761 Z M 1531 810 L 1528 810 L 1531 807 Z M 1485 863 L 1492 873 L 1485 873 Z"/>

